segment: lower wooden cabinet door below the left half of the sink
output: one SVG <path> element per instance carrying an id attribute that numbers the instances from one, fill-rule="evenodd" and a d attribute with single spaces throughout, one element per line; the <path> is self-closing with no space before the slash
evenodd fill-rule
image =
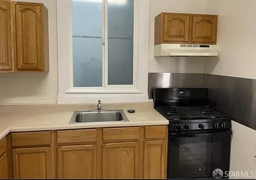
<path id="1" fill-rule="evenodd" d="M 58 178 L 97 178 L 97 145 L 58 147 Z"/>

